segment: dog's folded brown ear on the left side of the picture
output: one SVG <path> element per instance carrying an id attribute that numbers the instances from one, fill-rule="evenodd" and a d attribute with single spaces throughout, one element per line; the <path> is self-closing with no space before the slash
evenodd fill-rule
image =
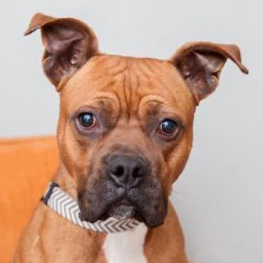
<path id="1" fill-rule="evenodd" d="M 74 73 L 98 54 L 98 41 L 93 30 L 77 19 L 54 18 L 37 13 L 32 17 L 25 35 L 39 28 L 45 47 L 43 70 L 59 90 L 59 83 L 65 76 Z"/>

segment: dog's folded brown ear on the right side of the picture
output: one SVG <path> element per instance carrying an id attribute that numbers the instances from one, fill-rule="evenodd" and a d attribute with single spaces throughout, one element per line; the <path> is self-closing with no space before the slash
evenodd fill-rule
<path id="1" fill-rule="evenodd" d="M 227 59 L 231 59 L 246 74 L 238 46 L 209 42 L 192 42 L 182 45 L 170 61 L 187 82 L 198 104 L 218 86 L 220 72 Z"/>

